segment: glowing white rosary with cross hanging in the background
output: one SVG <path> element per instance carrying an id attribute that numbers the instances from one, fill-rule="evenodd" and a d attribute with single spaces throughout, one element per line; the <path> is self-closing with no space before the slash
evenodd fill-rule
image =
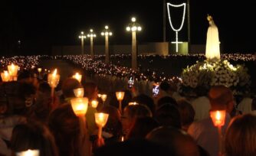
<path id="1" fill-rule="evenodd" d="M 183 15 L 182 15 L 182 24 L 180 25 L 179 29 L 175 29 L 172 25 L 171 15 L 169 12 L 169 7 L 183 7 Z M 178 44 L 181 44 L 182 42 L 178 41 L 178 32 L 182 29 L 185 19 L 185 3 L 182 3 L 181 5 L 172 5 L 171 3 L 167 3 L 167 10 L 168 10 L 168 17 L 169 17 L 169 24 L 171 25 L 172 31 L 176 32 L 176 41 L 172 41 L 172 44 L 176 44 L 176 52 L 178 52 Z"/>

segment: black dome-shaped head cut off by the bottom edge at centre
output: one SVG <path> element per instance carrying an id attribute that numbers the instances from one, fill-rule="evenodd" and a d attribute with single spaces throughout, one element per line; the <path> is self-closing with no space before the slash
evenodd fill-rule
<path id="1" fill-rule="evenodd" d="M 94 151 L 94 156 L 174 156 L 172 151 L 145 139 L 130 139 L 105 145 Z"/>

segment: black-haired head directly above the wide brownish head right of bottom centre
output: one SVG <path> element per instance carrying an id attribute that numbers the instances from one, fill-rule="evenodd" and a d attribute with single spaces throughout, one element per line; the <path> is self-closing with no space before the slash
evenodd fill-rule
<path id="1" fill-rule="evenodd" d="M 156 109 L 154 118 L 160 125 L 182 128 L 181 117 L 177 106 L 166 103 Z"/>

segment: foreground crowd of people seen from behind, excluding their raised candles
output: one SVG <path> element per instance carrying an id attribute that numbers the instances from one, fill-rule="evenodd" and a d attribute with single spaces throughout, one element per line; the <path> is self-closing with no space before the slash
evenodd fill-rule
<path id="1" fill-rule="evenodd" d="M 24 69 L 17 81 L 1 82 L 0 155 L 28 149 L 41 156 L 256 155 L 254 95 L 238 98 L 225 86 L 212 86 L 191 99 L 163 81 L 155 96 L 137 92 L 136 86 L 123 86 L 120 111 L 117 90 L 106 93 L 103 101 L 97 83 L 80 83 L 71 76 L 51 96 L 47 74 L 37 76 Z M 89 101 L 85 123 L 71 107 L 74 89 L 81 87 Z M 95 99 L 97 108 L 91 105 Z M 215 110 L 226 112 L 221 144 L 209 115 Z M 102 138 L 97 137 L 95 112 L 109 114 Z"/>

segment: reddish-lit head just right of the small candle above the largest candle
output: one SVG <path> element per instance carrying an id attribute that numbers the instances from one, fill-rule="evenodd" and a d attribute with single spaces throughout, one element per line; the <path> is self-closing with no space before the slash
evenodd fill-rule
<path id="1" fill-rule="evenodd" d="M 98 96 L 98 87 L 95 83 L 84 83 L 84 96 L 89 100 L 97 99 Z"/>

